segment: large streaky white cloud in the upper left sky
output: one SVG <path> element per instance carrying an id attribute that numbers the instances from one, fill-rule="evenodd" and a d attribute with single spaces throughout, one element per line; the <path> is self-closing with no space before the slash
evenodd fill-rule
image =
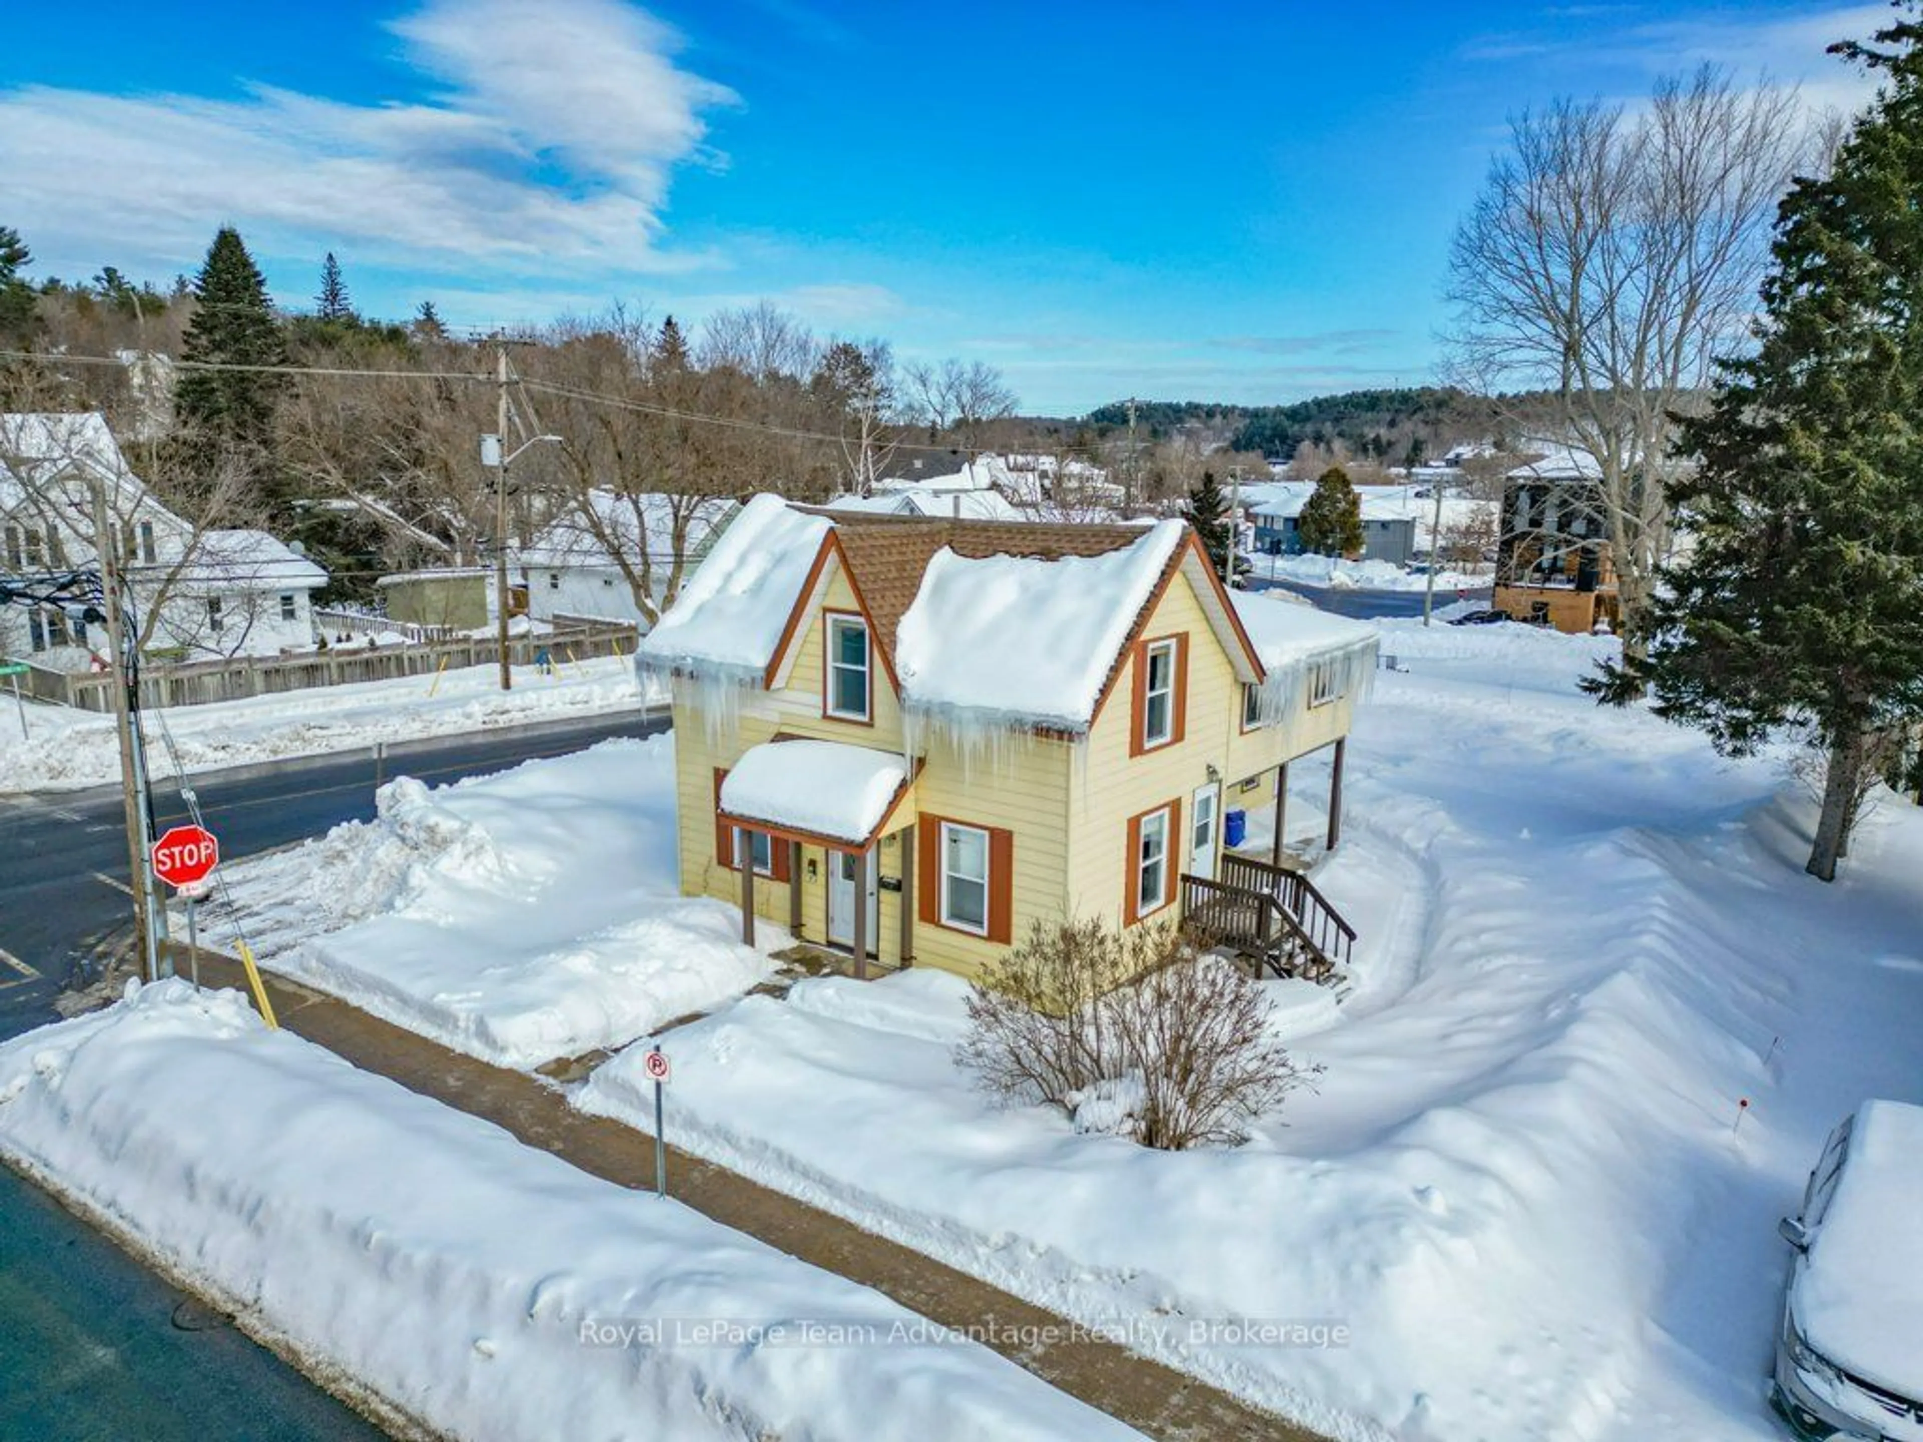
<path id="1" fill-rule="evenodd" d="M 221 223 L 265 254 L 673 271 L 677 165 L 719 163 L 704 112 L 735 94 L 681 69 L 679 37 L 619 0 L 429 0 L 396 21 L 425 100 L 342 104 L 0 92 L 0 175 L 42 269 L 171 269 Z"/>

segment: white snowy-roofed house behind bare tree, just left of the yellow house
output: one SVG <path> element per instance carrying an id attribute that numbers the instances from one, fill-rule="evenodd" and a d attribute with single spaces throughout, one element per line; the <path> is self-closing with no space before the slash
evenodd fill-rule
<path id="1" fill-rule="evenodd" d="M 631 573 L 638 577 L 646 565 L 648 594 L 662 609 L 675 573 L 677 535 L 687 581 L 740 510 L 731 496 L 615 490 L 588 492 L 581 506 L 587 510 L 563 511 L 515 554 L 535 621 L 621 621 L 646 631 L 652 621 L 635 600 Z"/>

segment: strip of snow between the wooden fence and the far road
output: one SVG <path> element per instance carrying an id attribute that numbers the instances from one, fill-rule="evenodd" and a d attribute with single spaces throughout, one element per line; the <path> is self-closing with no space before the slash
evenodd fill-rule
<path id="1" fill-rule="evenodd" d="M 288 756 L 342 752 L 375 742 L 419 740 L 527 721 L 625 711 L 642 700 L 633 663 L 623 656 L 567 661 L 556 656 L 554 675 L 519 667 L 513 690 L 500 690 L 492 665 L 463 667 L 442 677 L 363 681 L 315 686 L 210 706 L 148 711 L 148 752 L 154 777 L 173 775 L 162 731 L 173 734 L 190 771 Z M 665 702 L 665 694 L 650 700 Z M 0 792 L 75 790 L 119 779 L 113 717 L 65 706 L 27 706 L 27 736 L 19 734 L 13 696 L 0 686 Z"/>

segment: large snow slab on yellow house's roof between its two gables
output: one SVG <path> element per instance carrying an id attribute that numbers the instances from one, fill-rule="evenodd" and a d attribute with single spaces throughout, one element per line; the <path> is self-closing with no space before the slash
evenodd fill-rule
<path id="1" fill-rule="evenodd" d="M 1083 731 L 1136 617 L 1154 596 L 1181 521 L 1160 521 L 1106 556 L 937 552 L 896 629 L 908 711 L 981 725 Z M 1010 665 L 1010 638 L 1046 636 Z"/>

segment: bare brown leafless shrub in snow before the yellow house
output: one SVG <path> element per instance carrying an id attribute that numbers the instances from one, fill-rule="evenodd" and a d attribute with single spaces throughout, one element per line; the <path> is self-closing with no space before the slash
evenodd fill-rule
<path id="1" fill-rule="evenodd" d="M 1269 998 L 1173 927 L 1036 923 L 969 990 L 956 1059 L 1006 1104 L 1183 1152 L 1238 1146 L 1321 1067 L 1269 1032 Z"/>

